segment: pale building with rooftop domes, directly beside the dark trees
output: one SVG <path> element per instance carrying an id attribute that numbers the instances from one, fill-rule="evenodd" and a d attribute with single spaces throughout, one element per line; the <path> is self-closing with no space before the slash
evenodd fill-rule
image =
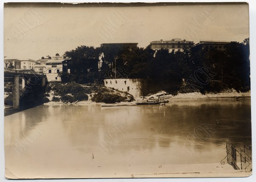
<path id="1" fill-rule="evenodd" d="M 63 61 L 63 57 L 58 53 L 46 61 L 46 77 L 48 82 L 61 81 L 58 74 L 63 71 Z"/>

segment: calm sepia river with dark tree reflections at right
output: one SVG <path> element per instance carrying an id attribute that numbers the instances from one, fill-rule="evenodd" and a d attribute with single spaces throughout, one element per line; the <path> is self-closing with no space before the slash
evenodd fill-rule
<path id="1" fill-rule="evenodd" d="M 40 105 L 5 117 L 6 173 L 14 178 L 225 176 L 235 171 L 220 165 L 226 141 L 251 145 L 250 114 L 250 100 Z"/>

